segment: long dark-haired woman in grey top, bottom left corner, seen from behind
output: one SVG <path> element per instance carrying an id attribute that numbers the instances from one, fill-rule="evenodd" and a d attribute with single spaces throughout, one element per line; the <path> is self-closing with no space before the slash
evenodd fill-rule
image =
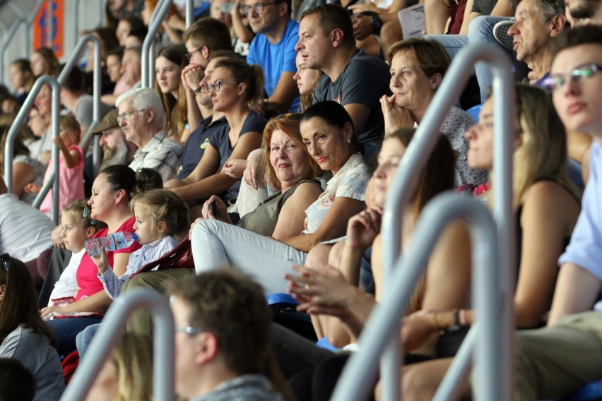
<path id="1" fill-rule="evenodd" d="M 34 400 L 58 400 L 64 390 L 63 369 L 54 333 L 37 310 L 28 268 L 8 253 L 0 256 L 0 358 L 15 358 L 33 373 Z"/>

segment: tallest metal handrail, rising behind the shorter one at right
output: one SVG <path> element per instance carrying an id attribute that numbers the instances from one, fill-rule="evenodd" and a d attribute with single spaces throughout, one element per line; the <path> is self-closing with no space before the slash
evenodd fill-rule
<path id="1" fill-rule="evenodd" d="M 504 309 L 500 315 L 501 327 L 506 330 L 507 341 L 500 352 L 508 353 L 511 349 L 510 333 L 512 327 L 512 269 L 514 266 L 514 220 L 512 218 L 512 144 L 509 140 L 512 133 L 512 110 L 514 109 L 514 90 L 512 82 L 512 68 L 510 61 L 501 49 L 488 47 L 485 44 L 471 44 L 463 49 L 451 63 L 442 84 L 435 93 L 430 107 L 427 109 L 423 121 L 418 126 L 415 137 L 408 146 L 406 154 L 401 160 L 397 170 L 394 184 L 389 188 L 386 196 L 382 222 L 383 237 L 383 270 L 384 275 L 391 272 L 394 261 L 401 253 L 401 232 L 403 221 L 403 208 L 408 204 L 413 193 L 418 174 L 415 172 L 424 168 L 427 158 L 439 136 L 439 127 L 442 125 L 447 113 L 454 104 L 454 99 L 461 95 L 461 90 L 470 78 L 474 64 L 485 61 L 493 70 L 493 100 L 499 111 L 494 122 L 495 130 L 495 204 L 493 215 L 498 227 L 498 247 L 501 250 L 500 275 L 502 276 L 502 292 Z M 388 294 L 384 293 L 384 297 Z M 398 332 L 399 333 L 399 332 Z M 396 340 L 391 340 L 390 347 L 383 356 L 382 364 L 382 394 L 384 400 L 398 400 L 399 386 L 399 346 Z M 503 361 L 505 369 L 509 371 L 509 359 Z M 502 399 L 506 399 L 502 397 Z"/>

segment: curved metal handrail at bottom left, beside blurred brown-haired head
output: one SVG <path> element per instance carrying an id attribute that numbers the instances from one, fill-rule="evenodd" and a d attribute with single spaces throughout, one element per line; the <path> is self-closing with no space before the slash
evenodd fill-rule
<path id="1" fill-rule="evenodd" d="M 145 307 L 153 317 L 153 400 L 174 399 L 174 318 L 167 299 L 153 289 L 133 289 L 115 299 L 102 318 L 85 359 L 67 386 L 61 401 L 85 399 L 95 377 L 136 309 Z"/>

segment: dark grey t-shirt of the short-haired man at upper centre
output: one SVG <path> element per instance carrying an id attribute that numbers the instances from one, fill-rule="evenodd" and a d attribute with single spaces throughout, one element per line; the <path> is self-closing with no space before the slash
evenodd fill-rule
<path id="1" fill-rule="evenodd" d="M 345 106 L 359 103 L 370 107 L 359 139 L 361 143 L 382 142 L 384 118 L 380 106 L 382 95 L 391 95 L 389 66 L 363 50 L 348 61 L 334 82 L 324 74 L 314 92 L 314 103 L 334 100 Z"/>

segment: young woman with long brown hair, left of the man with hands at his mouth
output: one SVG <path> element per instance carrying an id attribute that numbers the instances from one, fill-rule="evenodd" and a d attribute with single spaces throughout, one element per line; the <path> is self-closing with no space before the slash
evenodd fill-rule
<path id="1" fill-rule="evenodd" d="M 155 90 L 161 96 L 165 123 L 163 131 L 173 140 L 186 143 L 184 133 L 187 119 L 186 90 L 182 85 L 182 68 L 188 65 L 184 44 L 170 44 L 160 49 L 155 61 Z"/>

